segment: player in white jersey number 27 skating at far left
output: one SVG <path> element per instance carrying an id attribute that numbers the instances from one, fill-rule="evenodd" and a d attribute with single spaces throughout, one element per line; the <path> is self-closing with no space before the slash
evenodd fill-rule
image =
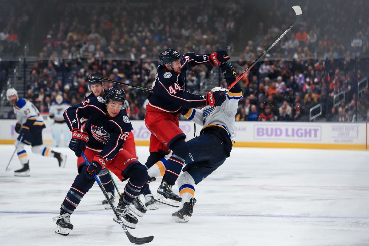
<path id="1" fill-rule="evenodd" d="M 17 117 L 15 132 L 19 136 L 14 145 L 17 148 L 18 158 L 23 166 L 21 169 L 14 171 L 14 175 L 30 176 L 30 166 L 24 145 L 31 145 L 31 150 L 35 154 L 55 157 L 58 160 L 59 167 L 64 167 L 66 155 L 55 152 L 42 144 L 42 129 L 45 128 L 45 123 L 37 108 L 27 99 L 18 98 L 17 90 L 14 88 L 7 90 L 6 97 L 13 104 L 13 110 Z M 19 143 L 21 138 L 22 141 Z"/>

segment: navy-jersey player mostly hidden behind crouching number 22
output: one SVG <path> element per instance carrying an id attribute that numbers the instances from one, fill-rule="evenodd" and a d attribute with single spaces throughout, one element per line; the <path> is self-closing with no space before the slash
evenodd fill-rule
<path id="1" fill-rule="evenodd" d="M 105 89 L 104 89 L 104 81 L 102 79 L 98 79 L 98 78 L 94 77 L 93 75 L 90 75 L 87 79 L 87 82 L 88 82 L 89 90 L 91 92 L 86 94 L 85 100 L 87 100 L 88 98 L 91 98 L 91 97 L 103 97 L 104 96 Z M 125 111 L 127 116 L 129 117 L 129 114 L 127 112 L 127 104 L 128 104 L 128 101 L 125 100 L 125 103 L 124 103 L 125 107 L 124 107 L 123 111 Z M 85 127 L 85 125 L 83 124 L 82 129 L 84 127 Z M 124 141 L 123 149 L 127 150 L 128 153 L 130 153 L 132 156 L 137 158 L 136 145 L 135 145 L 135 139 L 134 139 L 134 136 L 133 136 L 133 132 L 131 132 L 130 135 L 128 136 L 128 138 Z M 115 202 L 114 202 L 115 188 L 114 188 L 113 180 L 111 179 L 111 176 L 108 173 L 107 169 L 101 170 L 101 172 L 99 174 L 99 179 L 100 179 L 101 184 L 103 185 L 106 193 L 108 194 L 108 197 L 110 198 L 111 202 L 113 204 L 115 204 Z M 139 197 L 137 199 L 139 199 Z M 103 200 L 102 204 L 104 205 L 105 209 L 111 209 L 110 205 L 109 205 L 109 202 L 107 200 Z"/>

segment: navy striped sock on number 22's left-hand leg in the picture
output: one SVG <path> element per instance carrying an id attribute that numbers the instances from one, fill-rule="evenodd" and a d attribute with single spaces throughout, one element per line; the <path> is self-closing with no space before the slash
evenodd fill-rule
<path id="1" fill-rule="evenodd" d="M 95 180 L 87 178 L 84 172 L 79 173 L 64 198 L 61 210 L 68 214 L 72 214 L 82 200 L 82 197 L 93 186 L 94 182 Z"/>

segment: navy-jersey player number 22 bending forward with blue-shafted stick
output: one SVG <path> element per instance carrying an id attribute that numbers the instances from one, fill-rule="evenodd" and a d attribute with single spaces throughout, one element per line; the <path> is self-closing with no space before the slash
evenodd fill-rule
<path id="1" fill-rule="evenodd" d="M 61 205 L 60 215 L 54 217 L 56 233 L 68 235 L 73 229 L 70 215 L 95 183 L 92 174 L 98 175 L 104 168 L 121 181 L 129 179 L 120 196 L 117 212 L 125 226 L 132 229 L 136 227 L 138 220 L 131 214 L 129 207 L 147 181 L 148 174 L 146 167 L 122 148 L 132 131 L 130 119 L 123 110 L 124 101 L 123 89 L 113 86 L 106 91 L 104 98 L 87 98 L 65 111 L 64 118 L 72 132 L 69 148 L 78 157 L 79 174 Z M 88 118 L 85 131 L 80 130 L 82 117 Z M 91 163 L 89 166 L 81 156 L 82 151 Z"/>

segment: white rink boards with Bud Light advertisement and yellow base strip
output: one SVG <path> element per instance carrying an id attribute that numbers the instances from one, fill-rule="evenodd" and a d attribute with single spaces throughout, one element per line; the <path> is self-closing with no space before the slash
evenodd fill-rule
<path id="1" fill-rule="evenodd" d="M 137 145 L 148 145 L 150 132 L 144 121 L 131 121 Z M 44 143 L 52 145 L 50 124 L 42 132 Z M 190 121 L 179 121 L 187 140 L 198 136 L 201 126 Z M 15 121 L 0 120 L 0 143 L 14 143 L 18 134 Z M 236 122 L 235 145 L 240 147 L 309 148 L 309 149 L 358 149 L 368 148 L 368 128 L 361 123 L 325 122 Z"/>

